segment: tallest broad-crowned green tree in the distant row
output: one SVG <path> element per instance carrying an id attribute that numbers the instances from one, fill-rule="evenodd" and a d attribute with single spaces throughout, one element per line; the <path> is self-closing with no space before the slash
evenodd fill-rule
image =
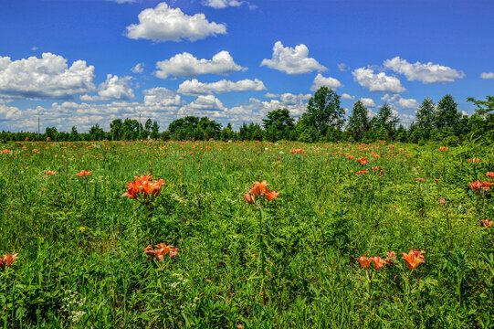
<path id="1" fill-rule="evenodd" d="M 328 87 L 321 87 L 310 98 L 307 111 L 302 115 L 302 122 L 325 135 L 331 126 L 341 129 L 343 116 L 340 96 Z"/>

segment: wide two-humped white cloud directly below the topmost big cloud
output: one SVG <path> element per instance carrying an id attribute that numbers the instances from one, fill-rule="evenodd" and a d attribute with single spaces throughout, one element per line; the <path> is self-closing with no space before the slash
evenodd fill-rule
<path id="1" fill-rule="evenodd" d="M 169 76 L 192 78 L 200 74 L 228 74 L 247 68 L 236 64 L 227 51 L 220 51 L 212 59 L 197 59 L 184 52 L 157 62 L 156 69 L 156 77 L 166 79 Z"/>

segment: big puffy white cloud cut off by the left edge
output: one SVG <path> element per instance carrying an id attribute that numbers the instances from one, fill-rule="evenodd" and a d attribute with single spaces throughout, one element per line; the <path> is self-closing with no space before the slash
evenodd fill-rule
<path id="1" fill-rule="evenodd" d="M 12 61 L 0 56 L 0 96 L 21 99 L 68 99 L 94 90 L 94 67 L 51 53 Z"/>

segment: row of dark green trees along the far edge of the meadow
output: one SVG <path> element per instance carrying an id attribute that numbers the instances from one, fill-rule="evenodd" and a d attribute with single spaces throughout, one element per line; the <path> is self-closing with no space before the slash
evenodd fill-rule
<path id="1" fill-rule="evenodd" d="M 452 95 L 445 95 L 437 103 L 430 98 L 422 101 L 415 113 L 415 122 L 406 127 L 384 102 L 377 113 L 369 111 L 362 101 L 355 101 L 348 118 L 341 106 L 341 96 L 334 90 L 321 87 L 310 98 L 307 111 L 296 121 L 289 110 L 268 112 L 262 123 L 244 122 L 234 131 L 231 123 L 223 126 L 207 117 L 187 116 L 170 123 L 167 130 L 160 131 L 157 122 L 148 119 L 141 122 L 127 118 L 116 119 L 105 132 L 95 124 L 88 133 L 79 133 L 76 127 L 70 132 L 58 132 L 47 127 L 45 133 L 2 132 L 1 141 L 134 141 L 134 140 L 286 140 L 305 143 L 350 141 L 372 143 L 376 140 L 425 143 L 443 141 L 448 145 L 465 139 L 494 141 L 494 96 L 485 101 L 468 98 L 476 106 L 472 115 L 462 114 Z M 371 115 L 373 114 L 373 115 Z"/>

